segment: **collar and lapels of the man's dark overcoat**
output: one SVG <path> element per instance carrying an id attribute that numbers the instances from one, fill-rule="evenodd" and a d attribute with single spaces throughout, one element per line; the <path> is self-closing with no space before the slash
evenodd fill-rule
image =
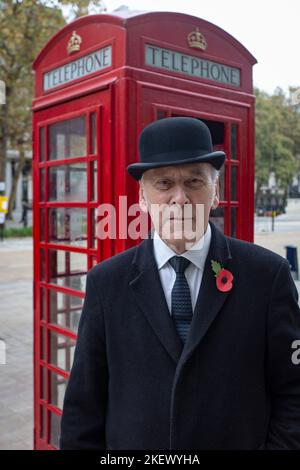
<path id="1" fill-rule="evenodd" d="M 143 240 L 137 247 L 132 261 L 129 286 L 137 304 L 146 316 L 154 333 L 176 364 L 187 361 L 200 344 L 213 323 L 230 292 L 220 292 L 211 267 L 211 260 L 228 267 L 232 259 L 227 237 L 213 223 L 211 243 L 204 265 L 201 288 L 198 294 L 189 336 L 183 347 L 170 316 L 168 305 L 160 282 L 153 252 L 153 239 Z"/>

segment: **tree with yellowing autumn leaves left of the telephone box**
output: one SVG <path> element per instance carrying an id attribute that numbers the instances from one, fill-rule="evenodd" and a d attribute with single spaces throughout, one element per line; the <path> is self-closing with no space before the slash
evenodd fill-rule
<path id="1" fill-rule="evenodd" d="M 8 0 L 0 4 L 0 80 L 6 85 L 6 104 L 0 105 L 0 181 L 5 181 L 8 146 L 19 152 L 8 216 L 25 154 L 31 150 L 32 62 L 66 20 L 87 14 L 92 8 L 94 12 L 105 9 L 101 0 Z"/>

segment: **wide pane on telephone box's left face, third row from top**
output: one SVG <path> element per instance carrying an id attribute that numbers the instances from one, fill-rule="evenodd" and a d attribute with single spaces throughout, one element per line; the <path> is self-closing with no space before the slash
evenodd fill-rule
<path id="1" fill-rule="evenodd" d="M 86 246 L 86 209 L 51 208 L 49 210 L 49 239 L 51 242 Z"/>

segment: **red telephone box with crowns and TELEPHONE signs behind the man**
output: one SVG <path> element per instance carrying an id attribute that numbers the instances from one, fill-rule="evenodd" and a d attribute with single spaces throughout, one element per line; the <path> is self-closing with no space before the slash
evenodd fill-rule
<path id="1" fill-rule="evenodd" d="M 253 240 L 255 58 L 230 34 L 189 15 L 92 15 L 59 31 L 33 68 L 36 449 L 58 446 L 86 272 L 137 241 L 96 236 L 97 207 L 138 184 L 142 128 L 193 116 L 226 152 L 221 202 L 226 234 Z M 139 240 L 140 241 L 140 240 Z"/>

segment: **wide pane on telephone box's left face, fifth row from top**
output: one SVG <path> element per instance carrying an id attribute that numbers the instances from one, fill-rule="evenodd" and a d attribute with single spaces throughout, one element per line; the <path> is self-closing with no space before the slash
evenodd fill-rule
<path id="1" fill-rule="evenodd" d="M 50 322 L 77 333 L 83 299 L 50 291 Z"/>

